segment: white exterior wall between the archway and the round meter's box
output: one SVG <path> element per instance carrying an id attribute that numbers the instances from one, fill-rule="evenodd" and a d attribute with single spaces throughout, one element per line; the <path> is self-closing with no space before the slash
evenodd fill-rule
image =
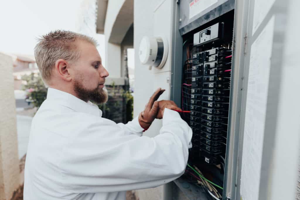
<path id="1" fill-rule="evenodd" d="M 134 117 L 143 111 L 150 96 L 156 89 L 154 88 L 154 74 L 152 71 L 149 71 L 148 67 L 141 64 L 138 49 L 143 36 L 153 36 L 153 11 L 158 1 L 134 1 Z M 151 131 L 151 127 L 149 131 Z M 147 133 L 149 131 L 146 131 L 144 134 L 149 136 L 149 133 Z M 136 195 L 140 200 L 162 199 L 163 186 L 137 190 Z"/>

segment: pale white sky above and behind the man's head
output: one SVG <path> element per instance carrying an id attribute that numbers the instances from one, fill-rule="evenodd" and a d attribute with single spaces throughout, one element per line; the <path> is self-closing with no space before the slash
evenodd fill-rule
<path id="1" fill-rule="evenodd" d="M 55 29 L 78 31 L 82 1 L 0 1 L 0 52 L 33 55 L 37 37 Z M 95 39 L 100 44 L 98 51 L 104 60 L 104 35 L 97 34 Z"/>

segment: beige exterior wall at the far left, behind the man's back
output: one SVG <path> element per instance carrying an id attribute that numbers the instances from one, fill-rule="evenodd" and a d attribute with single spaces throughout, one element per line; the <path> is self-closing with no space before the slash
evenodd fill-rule
<path id="1" fill-rule="evenodd" d="M 0 53 L 0 68 L 0 200 L 9 200 L 19 188 L 12 58 Z"/>

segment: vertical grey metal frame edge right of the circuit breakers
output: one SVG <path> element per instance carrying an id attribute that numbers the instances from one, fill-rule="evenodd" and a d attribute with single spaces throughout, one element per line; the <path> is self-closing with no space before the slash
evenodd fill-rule
<path id="1" fill-rule="evenodd" d="M 234 28 L 233 28 L 233 52 L 232 52 L 232 77 L 229 102 L 228 135 L 226 145 L 226 160 L 224 174 L 223 200 L 239 199 L 236 196 L 238 163 L 242 147 L 240 141 L 243 133 L 241 126 L 241 106 L 243 98 L 245 56 L 244 49 L 247 41 L 247 21 L 249 1 L 237 0 L 235 2 Z"/>

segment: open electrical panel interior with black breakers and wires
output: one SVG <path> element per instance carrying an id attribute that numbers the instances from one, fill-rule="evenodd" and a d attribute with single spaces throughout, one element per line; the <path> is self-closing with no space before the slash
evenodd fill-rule
<path id="1" fill-rule="evenodd" d="M 234 12 L 204 24 L 184 35 L 182 75 L 182 118 L 193 130 L 188 163 L 213 185 L 197 179 L 192 167 L 185 177 L 212 189 L 222 198 L 231 89 L 232 30 Z M 205 182 L 205 181 L 204 181 Z M 199 186 L 199 185 L 198 185 Z M 207 194 L 208 199 L 211 194 Z"/>

